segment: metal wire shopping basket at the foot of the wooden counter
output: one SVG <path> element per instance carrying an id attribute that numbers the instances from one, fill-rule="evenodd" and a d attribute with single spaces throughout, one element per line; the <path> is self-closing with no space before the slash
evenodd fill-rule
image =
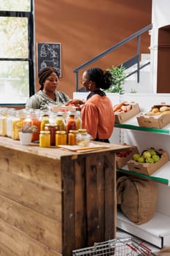
<path id="1" fill-rule="evenodd" d="M 95 243 L 84 249 L 75 249 L 72 256 L 151 256 L 150 248 L 132 238 L 121 238 Z"/>

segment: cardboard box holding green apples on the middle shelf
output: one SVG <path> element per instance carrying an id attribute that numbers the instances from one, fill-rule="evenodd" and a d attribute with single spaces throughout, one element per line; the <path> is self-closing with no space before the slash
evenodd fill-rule
<path id="1" fill-rule="evenodd" d="M 151 175 L 152 173 L 155 173 L 155 171 L 158 170 L 160 167 L 165 165 L 166 162 L 169 162 L 169 154 L 166 151 L 163 151 L 162 149 L 154 150 L 161 154 L 161 159 L 159 159 L 158 162 L 154 162 L 152 164 L 147 162 L 140 163 L 131 159 L 127 163 L 128 170 L 134 171 L 136 173 Z"/>

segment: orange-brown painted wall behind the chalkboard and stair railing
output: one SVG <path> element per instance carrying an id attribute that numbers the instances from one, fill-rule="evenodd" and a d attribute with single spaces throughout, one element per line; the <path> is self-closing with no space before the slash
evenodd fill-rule
<path id="1" fill-rule="evenodd" d="M 35 45 L 37 42 L 61 42 L 62 78 L 58 90 L 66 92 L 69 97 L 75 91 L 73 70 L 76 67 L 144 28 L 152 20 L 152 0 L 35 0 L 34 8 Z M 149 53 L 148 33 L 141 40 L 141 53 Z M 136 39 L 91 67 L 106 69 L 116 66 L 134 54 Z M 37 91 L 37 67 L 35 70 Z"/>

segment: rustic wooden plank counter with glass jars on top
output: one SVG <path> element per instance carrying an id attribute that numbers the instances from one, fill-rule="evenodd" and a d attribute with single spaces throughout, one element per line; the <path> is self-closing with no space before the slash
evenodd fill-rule
<path id="1" fill-rule="evenodd" d="M 0 254 L 71 256 L 115 238 L 115 152 L 128 148 L 80 154 L 1 137 Z"/>

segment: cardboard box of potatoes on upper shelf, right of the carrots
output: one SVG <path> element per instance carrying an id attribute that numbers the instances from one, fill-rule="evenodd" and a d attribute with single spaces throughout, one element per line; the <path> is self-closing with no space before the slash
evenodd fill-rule
<path id="1" fill-rule="evenodd" d="M 161 108 L 167 106 L 170 108 L 170 105 L 154 105 L 153 108 Z M 150 111 L 152 111 L 152 109 Z M 149 128 L 158 128 L 161 129 L 170 123 L 170 115 L 165 116 L 147 116 L 146 113 L 137 116 L 137 121 L 139 127 L 149 127 Z"/>

